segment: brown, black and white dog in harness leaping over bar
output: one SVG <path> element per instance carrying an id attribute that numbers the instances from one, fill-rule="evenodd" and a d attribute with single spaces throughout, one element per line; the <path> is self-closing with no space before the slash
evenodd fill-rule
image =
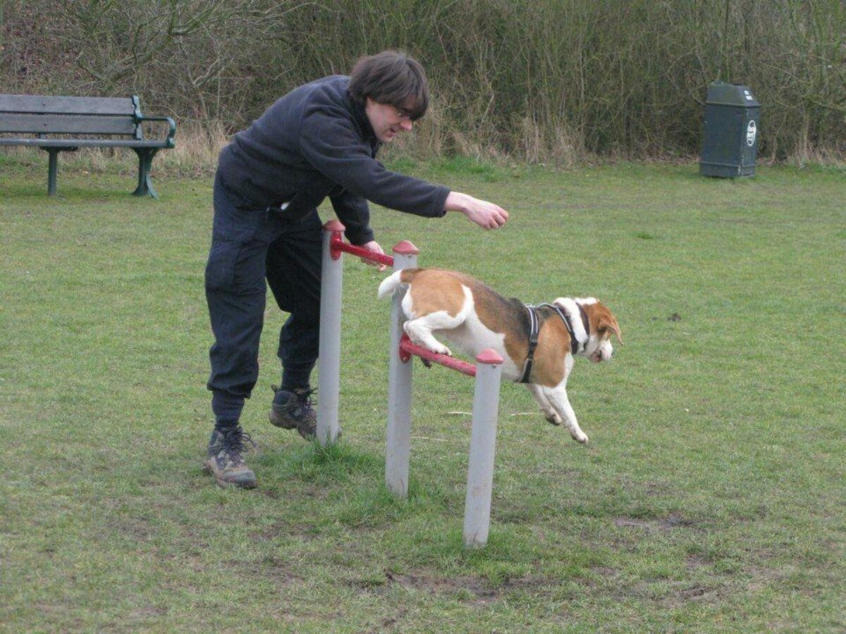
<path id="1" fill-rule="evenodd" d="M 567 397 L 574 356 L 594 363 L 613 355 L 612 336 L 622 343 L 616 318 L 596 298 L 558 298 L 531 306 L 507 299 L 473 277 L 445 269 L 404 269 L 385 278 L 379 298 L 401 287 L 411 342 L 452 356 L 442 335 L 475 357 L 492 348 L 503 358 L 503 378 L 525 383 L 553 425 L 565 424 L 574 440 L 586 443 Z"/>

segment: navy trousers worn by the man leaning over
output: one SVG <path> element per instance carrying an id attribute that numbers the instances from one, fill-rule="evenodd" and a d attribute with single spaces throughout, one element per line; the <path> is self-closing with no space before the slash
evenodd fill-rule
<path id="1" fill-rule="evenodd" d="M 217 424 L 238 420 L 258 380 L 266 285 L 290 313 L 279 333 L 282 385 L 309 385 L 320 336 L 321 229 L 316 210 L 288 221 L 283 211 L 256 208 L 215 176 L 206 301 L 215 338 L 207 386 Z"/>

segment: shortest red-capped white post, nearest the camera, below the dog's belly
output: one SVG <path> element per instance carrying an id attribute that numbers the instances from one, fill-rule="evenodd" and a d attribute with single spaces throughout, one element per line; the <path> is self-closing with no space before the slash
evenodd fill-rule
<path id="1" fill-rule="evenodd" d="M 497 447 L 502 374 L 503 358 L 490 348 L 476 357 L 473 429 L 470 431 L 470 461 L 464 500 L 464 546 L 467 548 L 484 546 L 491 525 L 493 457 Z"/>

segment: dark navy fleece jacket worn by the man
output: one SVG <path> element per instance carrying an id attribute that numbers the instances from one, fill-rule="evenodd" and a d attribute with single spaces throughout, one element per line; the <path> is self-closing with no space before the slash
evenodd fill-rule
<path id="1" fill-rule="evenodd" d="M 373 239 L 367 200 L 417 216 L 443 216 L 449 189 L 390 172 L 376 161 L 382 144 L 348 85 L 349 77 L 333 75 L 279 99 L 223 148 L 223 181 L 258 207 L 287 202 L 282 213 L 291 221 L 316 213 L 328 196 L 354 244 Z"/>

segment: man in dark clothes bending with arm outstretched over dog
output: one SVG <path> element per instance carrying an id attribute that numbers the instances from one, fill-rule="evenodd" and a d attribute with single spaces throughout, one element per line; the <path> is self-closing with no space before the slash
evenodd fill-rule
<path id="1" fill-rule="evenodd" d="M 214 183 L 214 228 L 206 265 L 215 429 L 206 470 L 217 484 L 255 486 L 244 463 L 239 425 L 244 399 L 258 379 L 266 286 L 290 313 L 279 335 L 282 384 L 274 387 L 270 421 L 314 436 L 311 370 L 318 350 L 321 220 L 327 196 L 351 243 L 383 253 L 370 227 L 372 200 L 417 216 L 460 211 L 486 229 L 508 212 L 497 205 L 389 172 L 376 151 L 408 132 L 429 103 L 426 74 L 401 52 L 362 58 L 349 77 L 334 75 L 292 90 L 220 155 Z M 265 282 L 266 281 L 266 282 Z"/>

